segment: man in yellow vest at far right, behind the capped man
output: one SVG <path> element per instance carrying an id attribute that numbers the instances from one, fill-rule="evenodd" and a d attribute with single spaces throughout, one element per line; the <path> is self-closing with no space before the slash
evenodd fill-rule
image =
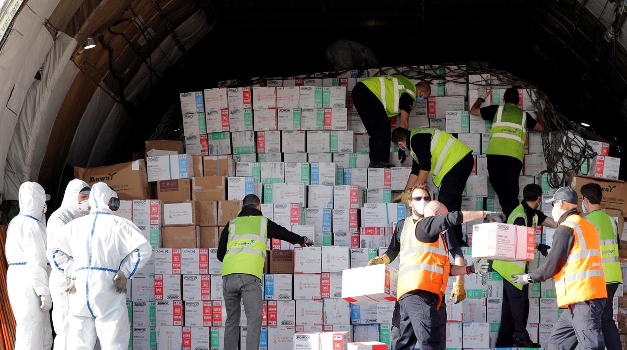
<path id="1" fill-rule="evenodd" d="M 618 222 L 601 209 L 603 190 L 598 183 L 586 183 L 581 187 L 581 209 L 586 215 L 586 220 L 592 222 L 599 232 L 599 245 L 601 247 L 601 260 L 605 274 L 606 291 L 608 301 L 605 303 L 601 315 L 601 329 L 605 347 L 608 349 L 621 349 L 621 339 L 618 328 L 614 323 L 613 299 L 618 285 L 623 283 L 621 262 L 618 258 Z"/>

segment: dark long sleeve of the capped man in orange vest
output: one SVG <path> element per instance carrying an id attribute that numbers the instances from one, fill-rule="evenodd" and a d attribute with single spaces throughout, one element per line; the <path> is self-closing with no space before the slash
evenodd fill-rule
<path id="1" fill-rule="evenodd" d="M 544 282 L 547 279 L 552 278 L 562 269 L 562 267 L 564 267 L 564 264 L 566 264 L 568 254 L 571 251 L 572 244 L 574 242 L 575 234 L 573 229 L 560 224 L 569 216 L 574 214 L 579 215 L 577 208 L 572 208 L 567 211 L 557 221 L 557 229 L 553 233 L 551 252 L 547 255 L 547 259 L 544 264 L 529 274 L 534 283 Z"/>

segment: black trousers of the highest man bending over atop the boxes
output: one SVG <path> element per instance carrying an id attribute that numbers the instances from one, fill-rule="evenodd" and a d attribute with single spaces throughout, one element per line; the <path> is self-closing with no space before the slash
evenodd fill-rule
<path id="1" fill-rule="evenodd" d="M 371 162 L 389 163 L 392 131 L 390 118 L 379 98 L 362 83 L 357 83 L 350 93 L 359 118 L 368 131 Z"/>

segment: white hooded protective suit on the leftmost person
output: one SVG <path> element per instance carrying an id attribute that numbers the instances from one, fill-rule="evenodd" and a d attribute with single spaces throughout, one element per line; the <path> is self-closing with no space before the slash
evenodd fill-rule
<path id="1" fill-rule="evenodd" d="M 50 349 L 50 312 L 40 296 L 50 296 L 46 263 L 46 225 L 41 222 L 46 192 L 36 182 L 19 187 L 19 214 L 9 223 L 6 284 L 16 321 L 15 350 Z"/>

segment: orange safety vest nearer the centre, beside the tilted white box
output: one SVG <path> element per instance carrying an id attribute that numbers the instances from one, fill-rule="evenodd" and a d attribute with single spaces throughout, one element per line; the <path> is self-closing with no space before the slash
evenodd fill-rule
<path id="1" fill-rule="evenodd" d="M 418 221 L 419 222 L 419 221 Z M 433 243 L 416 239 L 413 218 L 405 219 L 401 232 L 401 252 L 397 295 L 398 299 L 408 292 L 428 291 L 438 295 L 438 307 L 446 292 L 451 262 L 444 235 Z"/>

